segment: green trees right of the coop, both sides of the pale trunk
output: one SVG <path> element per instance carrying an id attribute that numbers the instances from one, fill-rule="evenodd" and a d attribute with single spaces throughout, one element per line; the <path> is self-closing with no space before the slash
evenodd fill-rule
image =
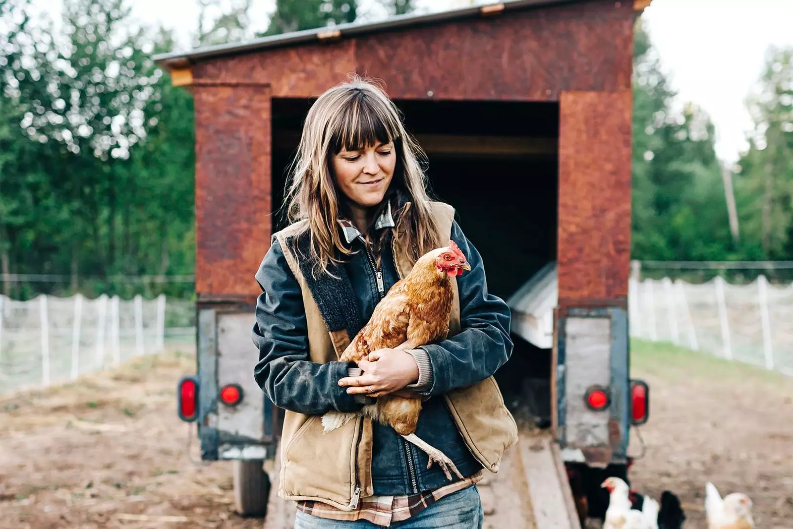
<path id="1" fill-rule="evenodd" d="M 733 240 L 714 153 L 714 128 L 675 98 L 641 22 L 634 43 L 633 257 L 658 260 L 793 259 L 793 50 L 768 52 L 755 130 L 734 176 Z"/>

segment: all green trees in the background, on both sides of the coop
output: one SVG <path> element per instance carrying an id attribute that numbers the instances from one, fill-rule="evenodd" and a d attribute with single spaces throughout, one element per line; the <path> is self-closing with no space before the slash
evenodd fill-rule
<path id="1" fill-rule="evenodd" d="M 199 0 L 193 44 L 252 36 L 251 0 Z M 411 0 L 378 0 L 390 14 Z M 77 289 L 188 296 L 186 284 L 124 278 L 193 274 L 193 98 L 151 61 L 174 47 L 135 29 L 128 0 L 67 0 L 63 24 L 0 0 L 0 282 L 14 297 Z M 225 6 L 222 10 L 220 6 Z M 229 7 L 230 6 L 230 7 Z M 277 0 L 266 35 L 354 21 L 356 0 Z M 768 52 L 735 195 L 733 240 L 714 127 L 676 107 L 642 28 L 634 43 L 634 259 L 793 259 L 793 50 Z"/>

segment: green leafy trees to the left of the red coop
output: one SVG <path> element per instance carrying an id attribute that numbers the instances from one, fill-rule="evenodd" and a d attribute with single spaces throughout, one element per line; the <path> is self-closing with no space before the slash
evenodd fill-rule
<path id="1" fill-rule="evenodd" d="M 0 8 L 19 22 L 0 56 L 2 271 L 67 274 L 49 290 L 89 295 L 127 283 L 86 276 L 191 274 L 192 98 L 150 58 L 170 36 L 152 46 L 129 29 L 123 0 L 65 2 L 58 33 L 27 4 Z M 3 284 L 17 297 L 42 289 Z"/>

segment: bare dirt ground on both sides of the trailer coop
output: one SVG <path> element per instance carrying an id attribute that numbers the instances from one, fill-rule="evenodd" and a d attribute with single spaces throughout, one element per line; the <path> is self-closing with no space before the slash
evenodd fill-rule
<path id="1" fill-rule="evenodd" d="M 194 427 L 175 415 L 175 383 L 193 370 L 190 355 L 147 357 L 0 397 L 0 529 L 261 528 L 233 511 L 230 465 L 202 464 Z M 633 374 L 652 398 L 636 489 L 679 494 L 699 528 L 711 480 L 752 497 L 757 527 L 793 527 L 793 381 L 642 344 Z M 510 462 L 481 487 L 493 529 L 520 526 L 506 522 L 520 503 Z"/>

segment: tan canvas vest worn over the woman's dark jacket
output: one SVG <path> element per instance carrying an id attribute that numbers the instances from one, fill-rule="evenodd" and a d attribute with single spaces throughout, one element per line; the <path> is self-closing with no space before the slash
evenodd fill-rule
<path id="1" fill-rule="evenodd" d="M 408 203 L 407 207 L 410 204 Z M 454 221 L 450 205 L 433 202 L 431 214 L 439 228 L 441 240 L 449 240 Z M 308 324 L 308 355 L 312 362 L 326 363 L 338 359 L 350 336 L 346 330 L 328 332 L 320 309 L 312 298 L 291 250 L 290 237 L 301 232 L 301 223 L 275 234 L 302 289 Z M 399 224 L 395 228 L 395 255 L 399 251 Z M 410 273 L 412 264 L 397 260 L 400 277 Z M 460 304 L 457 281 L 450 318 L 450 335 L 460 330 Z M 435 397 L 438 398 L 438 397 Z M 482 466 L 496 472 L 504 450 L 517 443 L 515 420 L 504 405 L 496 381 L 490 377 L 465 388 L 454 389 L 442 397 L 465 444 Z M 337 508 L 351 510 L 356 489 L 360 497 L 372 496 L 372 424 L 369 419 L 351 420 L 337 430 L 323 433 L 320 416 L 285 412 L 281 438 L 281 475 L 278 495 L 286 500 L 318 500 Z"/>

